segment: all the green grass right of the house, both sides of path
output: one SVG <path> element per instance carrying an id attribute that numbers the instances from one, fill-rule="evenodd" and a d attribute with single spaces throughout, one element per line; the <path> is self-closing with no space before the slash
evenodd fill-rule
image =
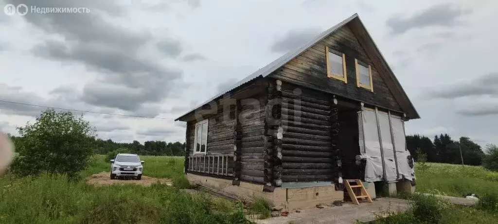
<path id="1" fill-rule="evenodd" d="M 480 166 L 455 164 L 415 163 L 416 192 L 462 197 L 467 193 L 479 197 L 498 194 L 498 172 Z M 497 197 L 497 196 L 495 196 Z M 431 197 L 413 199 L 411 209 L 403 214 L 380 219 L 375 224 L 495 224 L 498 211 L 489 208 L 451 205 Z M 494 201 L 492 203 L 498 203 Z M 419 211 L 417 211 L 417 208 Z M 418 215 L 417 215 L 418 214 Z M 427 221 L 424 219 L 434 218 Z M 436 219 L 437 218 L 437 219 Z M 421 219 L 421 220 L 420 220 Z"/>

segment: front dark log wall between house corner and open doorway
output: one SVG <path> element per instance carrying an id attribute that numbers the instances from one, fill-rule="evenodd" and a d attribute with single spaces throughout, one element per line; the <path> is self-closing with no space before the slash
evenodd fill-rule
<path id="1" fill-rule="evenodd" d="M 332 95 L 282 84 L 282 181 L 336 181 L 339 155 Z M 337 133 L 337 132 L 334 132 Z"/>

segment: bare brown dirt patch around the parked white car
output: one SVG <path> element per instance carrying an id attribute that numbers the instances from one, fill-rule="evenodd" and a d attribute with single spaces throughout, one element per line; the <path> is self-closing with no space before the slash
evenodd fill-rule
<path id="1" fill-rule="evenodd" d="M 88 184 L 96 186 L 112 185 L 112 184 L 138 184 L 143 186 L 150 186 L 153 183 L 166 184 L 168 186 L 172 185 L 172 181 L 168 178 L 154 178 L 142 176 L 141 180 L 135 179 L 115 179 L 111 180 L 110 172 L 100 172 L 98 174 L 90 175 L 86 178 Z"/>

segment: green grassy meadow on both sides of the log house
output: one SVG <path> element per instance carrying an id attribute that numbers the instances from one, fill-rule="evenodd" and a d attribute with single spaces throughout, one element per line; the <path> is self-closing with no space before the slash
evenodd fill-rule
<path id="1" fill-rule="evenodd" d="M 170 178 L 173 186 L 153 184 L 112 185 L 95 187 L 85 183 L 85 177 L 108 172 L 110 162 L 105 155 L 94 155 L 90 166 L 80 178 L 42 174 L 38 177 L 0 178 L 1 224 L 232 224 L 249 223 L 250 211 L 242 203 L 229 202 L 203 194 L 189 194 L 190 188 L 183 175 L 183 157 L 140 156 L 144 175 Z M 498 173 L 478 166 L 416 163 L 416 191 L 462 197 L 496 193 Z M 441 223 L 496 223 L 498 211 L 478 207 L 467 208 L 441 203 L 432 199 L 412 199 L 417 211 L 425 217 L 430 211 L 439 211 Z M 492 202 L 493 203 L 493 202 Z M 261 205 L 262 204 L 262 205 Z M 418 205 L 418 207 L 417 207 Z M 266 213 L 262 202 L 254 210 Z M 259 208 L 261 207 L 261 208 Z M 429 212 L 428 212 L 429 211 Z M 415 209 L 382 219 L 376 223 L 420 223 L 414 220 Z M 436 215 L 435 215 L 436 216 Z"/>

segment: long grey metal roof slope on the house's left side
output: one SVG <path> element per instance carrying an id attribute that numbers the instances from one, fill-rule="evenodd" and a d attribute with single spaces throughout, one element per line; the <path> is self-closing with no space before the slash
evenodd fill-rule
<path id="1" fill-rule="evenodd" d="M 294 49 L 294 50 L 292 50 L 292 51 L 290 51 L 290 52 L 288 52 L 288 53 L 280 56 L 279 58 L 277 58 L 273 62 L 269 63 L 268 65 L 266 65 L 266 66 L 264 66 L 264 67 L 262 67 L 260 69 L 258 69 L 254 73 L 250 74 L 248 77 L 244 78 L 243 80 L 239 81 L 238 83 L 234 84 L 233 86 L 231 86 L 231 87 L 223 90 L 222 92 L 220 92 L 216 96 L 214 96 L 211 99 L 207 100 L 206 102 L 198 105 L 197 107 L 195 107 L 194 109 L 190 110 L 189 112 L 184 113 L 183 115 L 181 115 L 180 117 L 176 118 L 175 120 L 179 120 L 183 116 L 185 116 L 185 115 L 187 115 L 187 114 L 195 111 L 196 109 L 202 107 L 203 105 L 208 104 L 209 102 L 211 102 L 211 101 L 213 101 L 213 100 L 215 100 L 215 99 L 223 96 L 224 94 L 226 94 L 226 93 L 234 90 L 235 88 L 237 88 L 239 86 L 242 86 L 245 83 L 248 83 L 249 81 L 251 81 L 251 80 L 253 80 L 253 79 L 257 78 L 257 77 L 266 77 L 266 76 L 268 76 L 269 74 L 271 74 L 272 72 L 274 72 L 278 68 L 282 67 L 287 62 L 289 62 L 293 58 L 297 57 L 299 54 L 301 54 L 302 52 L 304 52 L 308 48 L 312 47 L 314 44 L 316 44 L 317 42 L 319 42 L 323 38 L 327 37 L 328 35 L 330 35 L 334 31 L 336 31 L 337 29 L 341 28 L 346 23 L 350 22 L 351 20 L 353 20 L 356 17 L 358 17 L 357 13 L 355 13 L 352 16 L 348 17 L 347 19 L 341 21 L 340 23 L 336 24 L 335 26 L 331 27 L 330 29 L 328 29 L 328 30 L 320 33 L 317 36 L 315 36 L 313 39 L 309 40 L 304 45 L 302 45 L 302 46 L 300 46 L 300 47 L 298 47 L 298 48 L 296 48 L 296 49 Z"/>

